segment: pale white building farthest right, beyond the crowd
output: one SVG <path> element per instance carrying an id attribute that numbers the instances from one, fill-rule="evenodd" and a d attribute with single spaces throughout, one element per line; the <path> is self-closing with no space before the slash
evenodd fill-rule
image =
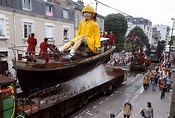
<path id="1" fill-rule="evenodd" d="M 168 43 L 169 41 L 169 35 L 170 35 L 170 27 L 167 25 L 157 24 L 154 27 L 157 28 L 157 31 L 161 34 L 161 40 L 164 40 Z"/>

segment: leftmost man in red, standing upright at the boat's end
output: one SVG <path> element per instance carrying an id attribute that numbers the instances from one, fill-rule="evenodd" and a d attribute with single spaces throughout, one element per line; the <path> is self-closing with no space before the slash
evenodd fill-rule
<path id="1" fill-rule="evenodd" d="M 34 60 L 35 62 L 36 61 L 35 60 L 35 47 L 37 45 L 37 39 L 35 38 L 34 33 L 31 33 L 31 36 L 28 38 L 27 43 L 28 43 L 27 52 L 30 56 L 32 55 L 31 59 Z"/>

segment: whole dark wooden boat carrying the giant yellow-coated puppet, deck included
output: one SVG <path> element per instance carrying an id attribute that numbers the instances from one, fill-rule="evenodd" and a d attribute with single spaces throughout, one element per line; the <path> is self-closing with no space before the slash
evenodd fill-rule
<path id="1" fill-rule="evenodd" d="M 13 50 L 17 50 L 17 47 Z M 78 53 L 72 60 L 62 60 L 60 57 L 64 55 L 55 57 L 55 54 L 51 54 L 51 62 L 47 64 L 42 59 L 37 59 L 37 62 L 26 61 L 26 56 L 13 59 L 12 62 L 16 69 L 20 87 L 24 92 L 29 92 L 36 88 L 51 87 L 85 74 L 104 63 L 114 50 L 115 48 L 112 47 L 93 56 L 87 56 L 84 55 L 84 52 L 77 51 Z"/>

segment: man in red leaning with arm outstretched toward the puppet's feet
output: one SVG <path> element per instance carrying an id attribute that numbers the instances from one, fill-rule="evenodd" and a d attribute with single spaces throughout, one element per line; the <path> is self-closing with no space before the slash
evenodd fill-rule
<path id="1" fill-rule="evenodd" d="M 50 49 L 52 51 L 54 51 L 48 44 L 48 38 L 44 38 L 44 42 L 40 43 L 40 54 L 39 57 L 40 58 L 45 58 L 46 63 L 49 63 L 49 55 L 47 52 L 47 49 Z"/>

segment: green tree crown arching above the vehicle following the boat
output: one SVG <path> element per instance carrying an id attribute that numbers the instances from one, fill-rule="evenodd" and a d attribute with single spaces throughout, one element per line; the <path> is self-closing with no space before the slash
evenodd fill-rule
<path id="1" fill-rule="evenodd" d="M 148 40 L 148 37 L 147 35 L 145 34 L 145 32 L 142 30 L 141 27 L 139 26 L 136 26 L 134 27 L 130 32 L 129 34 L 127 35 L 127 37 L 132 37 L 132 34 L 135 32 L 135 34 L 141 38 L 141 43 L 143 45 L 148 45 L 149 44 L 149 40 Z"/>

